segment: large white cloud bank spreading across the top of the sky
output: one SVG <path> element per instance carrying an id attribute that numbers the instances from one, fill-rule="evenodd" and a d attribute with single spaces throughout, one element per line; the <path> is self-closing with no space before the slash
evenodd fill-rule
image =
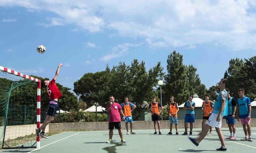
<path id="1" fill-rule="evenodd" d="M 48 11 L 58 18 L 45 27 L 75 24 L 90 33 L 111 31 L 109 37 L 146 40 L 150 47 L 190 48 L 217 43 L 230 50 L 256 48 L 256 2 L 1 0 L 0 6 Z M 41 7 L 44 6 L 44 7 Z"/>

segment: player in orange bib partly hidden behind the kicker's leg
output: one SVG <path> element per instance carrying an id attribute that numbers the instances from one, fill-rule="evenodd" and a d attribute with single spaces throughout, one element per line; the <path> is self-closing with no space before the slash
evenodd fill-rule
<path id="1" fill-rule="evenodd" d="M 203 121 L 202 121 L 202 130 L 205 127 L 206 121 L 209 119 L 209 116 L 212 114 L 212 110 L 213 110 L 213 106 L 214 103 L 209 100 L 209 95 L 206 94 L 205 95 L 205 101 L 203 101 L 202 104 L 202 112 L 203 112 Z M 201 133 L 199 133 L 198 135 L 201 135 Z M 210 132 L 207 135 L 212 135 L 212 127 L 210 127 Z"/>

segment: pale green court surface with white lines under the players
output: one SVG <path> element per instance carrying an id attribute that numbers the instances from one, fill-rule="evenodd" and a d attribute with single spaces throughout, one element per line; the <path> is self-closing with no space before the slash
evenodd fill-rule
<path id="1" fill-rule="evenodd" d="M 197 137 L 200 129 L 194 129 L 192 137 Z M 114 130 L 113 143 L 108 141 L 108 131 L 75 131 L 64 132 L 50 136 L 49 139 L 41 139 L 41 148 L 31 149 L 4 149 L 0 152 L 22 152 L 22 153 L 131 153 L 131 152 L 212 152 L 220 148 L 218 135 L 214 130 L 213 135 L 207 135 L 196 147 L 188 140 L 188 136 L 181 135 L 184 129 L 179 129 L 180 135 L 166 135 L 169 130 L 161 130 L 162 135 L 153 135 L 154 130 L 134 130 L 136 135 L 126 135 L 123 130 L 126 143 L 121 143 L 118 131 Z M 175 130 L 172 130 L 175 133 Z M 228 128 L 222 128 L 224 137 L 230 135 Z M 158 132 L 157 132 L 158 133 Z M 252 128 L 253 142 L 240 141 L 244 138 L 242 128 L 236 128 L 237 140 L 225 140 L 228 151 L 234 153 L 256 152 L 256 128 Z"/>

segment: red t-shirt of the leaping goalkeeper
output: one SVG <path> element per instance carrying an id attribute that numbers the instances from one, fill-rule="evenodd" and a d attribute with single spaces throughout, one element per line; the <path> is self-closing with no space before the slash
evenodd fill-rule
<path id="1" fill-rule="evenodd" d="M 57 85 L 55 84 L 54 79 L 52 79 L 52 81 L 50 81 L 50 83 L 47 85 L 46 93 L 51 100 L 60 98 L 62 96 Z"/>

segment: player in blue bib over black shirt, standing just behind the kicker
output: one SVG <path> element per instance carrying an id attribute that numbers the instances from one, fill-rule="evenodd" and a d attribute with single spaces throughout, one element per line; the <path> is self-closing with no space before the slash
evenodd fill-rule
<path id="1" fill-rule="evenodd" d="M 228 116 L 226 116 L 226 122 L 230 131 L 230 136 L 226 139 L 236 140 L 236 127 L 235 127 L 235 113 L 236 113 L 236 100 L 230 96 L 229 89 L 228 92 Z"/>

